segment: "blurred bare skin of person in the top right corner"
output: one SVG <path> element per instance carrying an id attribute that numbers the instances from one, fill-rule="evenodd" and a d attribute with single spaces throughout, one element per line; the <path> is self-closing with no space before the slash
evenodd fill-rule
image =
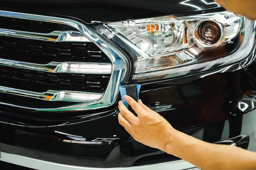
<path id="1" fill-rule="evenodd" d="M 250 20 L 256 20 L 255 0 L 215 0 L 228 11 L 245 16 Z"/>

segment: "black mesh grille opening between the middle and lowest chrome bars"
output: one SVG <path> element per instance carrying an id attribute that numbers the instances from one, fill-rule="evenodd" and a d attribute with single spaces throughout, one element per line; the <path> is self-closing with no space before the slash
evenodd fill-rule
<path id="1" fill-rule="evenodd" d="M 0 86 L 43 93 L 48 90 L 103 93 L 110 75 L 47 73 L 0 66 Z"/>

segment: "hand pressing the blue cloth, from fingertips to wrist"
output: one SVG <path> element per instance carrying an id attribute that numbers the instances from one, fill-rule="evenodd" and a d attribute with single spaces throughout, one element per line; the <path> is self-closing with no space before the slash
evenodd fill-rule
<path id="1" fill-rule="evenodd" d="M 173 134 L 174 128 L 171 124 L 155 111 L 149 109 L 139 99 L 136 102 L 132 97 L 125 95 L 124 99 L 137 113 L 131 113 L 122 101 L 119 102 L 118 114 L 119 124 L 124 126 L 127 132 L 136 140 L 150 146 L 164 150 L 169 137 Z"/>

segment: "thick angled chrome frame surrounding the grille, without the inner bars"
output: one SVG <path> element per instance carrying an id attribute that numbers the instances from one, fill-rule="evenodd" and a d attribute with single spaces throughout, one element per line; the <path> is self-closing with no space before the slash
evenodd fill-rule
<path id="1" fill-rule="evenodd" d="M 87 37 L 91 42 L 94 42 L 103 53 L 105 53 L 112 62 L 112 70 L 110 81 L 106 91 L 99 100 L 92 100 L 86 103 L 77 103 L 70 106 L 65 106 L 61 108 L 28 108 L 35 109 L 39 111 L 67 111 L 67 110 L 88 110 L 92 108 L 103 108 L 111 106 L 117 99 L 117 95 L 119 92 L 119 82 L 124 79 L 126 76 L 128 60 L 126 59 L 126 55 L 120 51 L 116 46 L 110 44 L 108 40 L 103 38 L 101 35 L 96 33 L 92 28 L 88 25 L 78 22 L 76 20 L 70 20 L 65 18 L 51 17 L 51 16 L 43 16 L 43 15 L 32 15 L 27 13 L 17 13 L 17 12 L 9 12 L 9 11 L 0 11 L 0 16 L 11 17 L 11 18 L 20 18 L 20 19 L 29 19 L 36 21 L 44 21 L 44 22 L 54 22 L 59 24 L 66 24 L 72 26 L 76 30 L 80 31 L 85 37 Z M 6 103 L 6 105 L 10 105 Z M 23 106 L 16 106 L 23 107 Z"/>

